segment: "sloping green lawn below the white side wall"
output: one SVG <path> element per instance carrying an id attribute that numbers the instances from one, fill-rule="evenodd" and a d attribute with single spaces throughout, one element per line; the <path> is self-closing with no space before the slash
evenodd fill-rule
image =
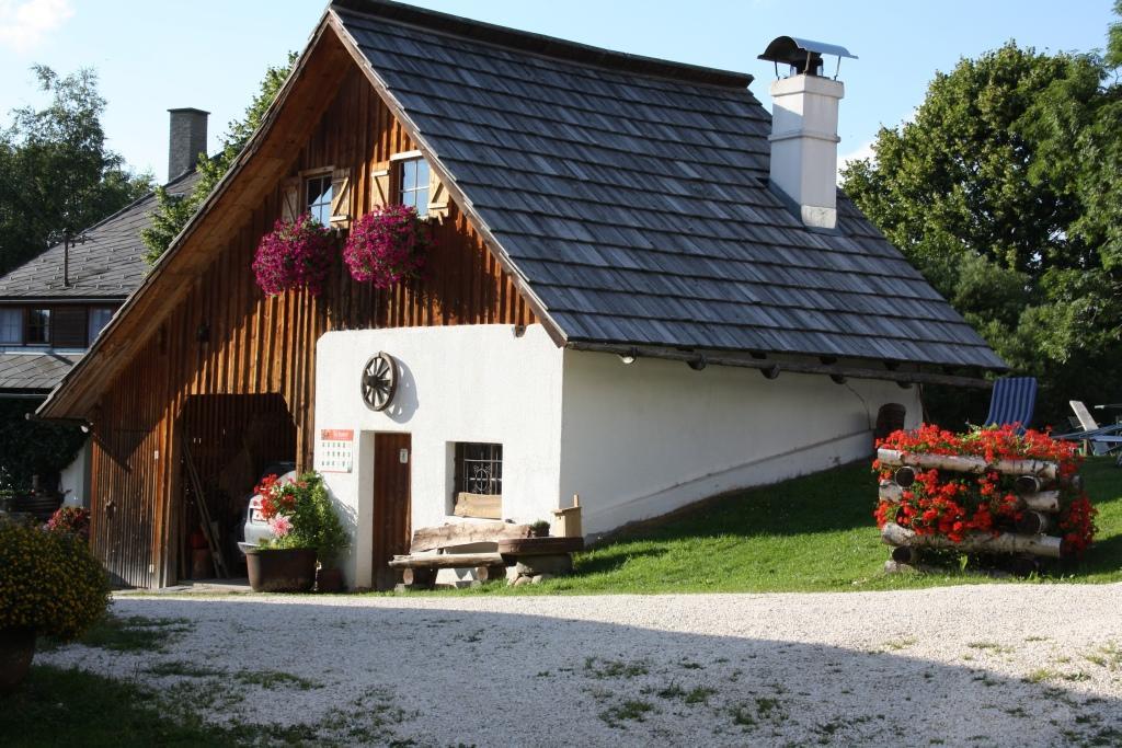
<path id="1" fill-rule="evenodd" d="M 1028 583 L 1122 581 L 1122 469 L 1102 458 L 1088 460 L 1082 472 L 1098 508 L 1095 545 L 1082 562 Z M 889 547 L 873 520 L 875 499 L 876 478 L 868 463 L 845 465 L 628 529 L 578 554 L 577 573 L 569 578 L 456 593 L 809 592 L 988 581 L 965 573 L 885 574 Z"/>

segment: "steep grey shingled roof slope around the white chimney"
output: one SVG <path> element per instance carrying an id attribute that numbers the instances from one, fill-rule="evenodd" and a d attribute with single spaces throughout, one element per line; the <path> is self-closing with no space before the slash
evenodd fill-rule
<path id="1" fill-rule="evenodd" d="M 1004 368 L 845 195 L 825 232 L 769 188 L 751 76 L 331 10 L 568 341 Z"/>

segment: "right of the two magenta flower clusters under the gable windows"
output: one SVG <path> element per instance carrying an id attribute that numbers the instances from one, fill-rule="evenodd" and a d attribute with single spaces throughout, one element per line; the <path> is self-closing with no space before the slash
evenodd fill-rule
<path id="1" fill-rule="evenodd" d="M 351 227 L 343 260 L 351 277 L 389 288 L 421 277 L 433 247 L 429 224 L 406 205 L 385 205 L 367 213 Z"/>

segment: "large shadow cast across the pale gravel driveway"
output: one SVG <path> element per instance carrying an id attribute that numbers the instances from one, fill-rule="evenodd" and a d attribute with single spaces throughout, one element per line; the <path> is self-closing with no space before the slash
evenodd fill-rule
<path id="1" fill-rule="evenodd" d="M 201 712 L 234 717 L 242 727 L 303 723 L 305 739 L 318 735 L 335 742 L 1122 741 L 1122 641 L 1113 649 L 1066 652 L 1068 664 L 1022 680 L 981 663 L 1000 664 L 1014 650 L 1050 643 L 1027 637 L 993 643 L 992 649 L 964 644 L 956 666 L 909 656 L 916 641 L 907 638 L 859 652 L 533 615 L 555 609 L 555 599 L 526 599 L 517 615 L 457 610 L 452 600 L 401 607 L 295 600 L 119 600 L 118 615 L 188 619 L 192 626 L 159 653 L 104 653 L 110 669 L 99 665 L 99 672 L 139 673 L 140 684 L 175 693 L 182 703 L 195 703 L 190 687 L 196 683 L 212 700 L 226 693 L 219 703 L 199 702 Z M 573 599 L 564 609 L 579 611 L 592 600 Z M 683 611 L 703 625 L 705 609 Z M 67 654 L 62 649 L 42 661 L 65 662 Z M 205 676 L 180 672 L 177 680 L 160 680 L 181 667 L 168 663 L 184 662 L 205 664 Z M 283 671 L 314 686 L 287 687 L 280 678 L 274 678 L 279 691 L 230 685 L 257 683 L 237 676 L 252 671 Z M 1095 681 L 1110 693 L 1111 677 L 1111 698 L 1085 690 Z M 61 704 L 58 719 L 65 711 Z"/>

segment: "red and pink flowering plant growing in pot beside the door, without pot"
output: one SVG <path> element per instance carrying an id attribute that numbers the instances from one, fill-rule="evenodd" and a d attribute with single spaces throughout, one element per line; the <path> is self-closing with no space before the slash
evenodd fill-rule
<path id="1" fill-rule="evenodd" d="M 323 564 L 334 562 L 347 547 L 347 530 L 319 473 L 306 472 L 284 483 L 276 475 L 267 475 L 256 492 L 261 497 L 261 514 L 274 534 L 272 541 L 261 545 L 315 548 Z"/>

